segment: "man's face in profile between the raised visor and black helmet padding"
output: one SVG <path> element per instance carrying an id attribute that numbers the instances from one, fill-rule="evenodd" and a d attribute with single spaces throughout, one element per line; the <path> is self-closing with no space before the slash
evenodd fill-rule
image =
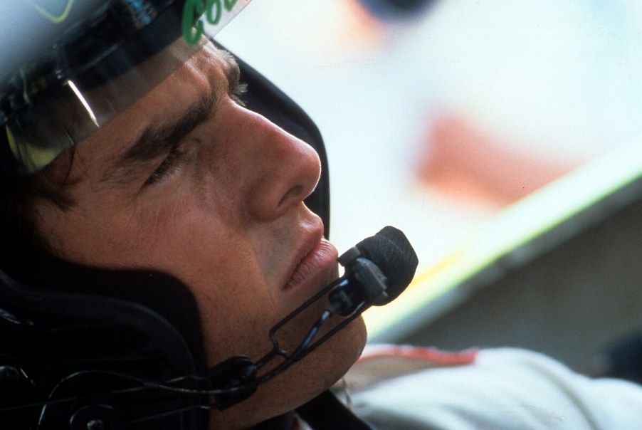
<path id="1" fill-rule="evenodd" d="M 188 285 L 209 365 L 258 360 L 272 347 L 270 327 L 337 276 L 337 251 L 302 201 L 319 158 L 233 100 L 235 67 L 204 48 L 77 145 L 71 209 L 36 206 L 58 256 Z M 323 305 L 284 327 L 280 342 L 291 351 Z M 364 341 L 357 320 L 246 402 L 214 412 L 213 424 L 245 426 L 298 406 L 340 378 Z"/>

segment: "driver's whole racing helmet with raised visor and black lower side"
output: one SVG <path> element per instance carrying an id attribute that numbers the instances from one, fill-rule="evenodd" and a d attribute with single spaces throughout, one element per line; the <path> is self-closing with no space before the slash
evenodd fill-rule
<path id="1" fill-rule="evenodd" d="M 154 88 L 249 0 L 27 0 L 1 6 L 0 183 L 28 177 Z M 28 33 L 24 33 L 28 29 Z M 238 59 L 248 109 L 308 142 L 322 177 L 306 204 L 329 233 L 319 130 Z M 208 369 L 194 297 L 153 271 L 80 266 L 0 243 L 0 422 L 25 429 L 201 429 L 231 360 Z M 236 374 L 236 372 L 231 372 Z M 214 395 L 211 395 L 213 394 Z"/>

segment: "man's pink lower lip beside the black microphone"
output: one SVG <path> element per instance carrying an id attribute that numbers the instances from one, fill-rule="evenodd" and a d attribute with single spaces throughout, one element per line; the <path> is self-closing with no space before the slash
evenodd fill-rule
<path id="1" fill-rule="evenodd" d="M 303 285 L 315 284 L 327 280 L 327 276 L 337 263 L 338 252 L 332 243 L 321 238 L 304 253 L 295 265 L 284 290 L 294 290 Z"/>

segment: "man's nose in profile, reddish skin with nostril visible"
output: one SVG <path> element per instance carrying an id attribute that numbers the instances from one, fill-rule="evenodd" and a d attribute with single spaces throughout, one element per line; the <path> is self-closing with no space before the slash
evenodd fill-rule
<path id="1" fill-rule="evenodd" d="M 298 206 L 314 191 L 321 174 L 317 152 L 269 120 L 249 112 L 254 170 L 247 211 L 259 221 L 272 221 Z"/>

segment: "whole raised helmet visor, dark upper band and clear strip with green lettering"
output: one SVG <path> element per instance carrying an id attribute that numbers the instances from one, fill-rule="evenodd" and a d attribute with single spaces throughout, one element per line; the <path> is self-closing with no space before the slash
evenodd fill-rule
<path id="1" fill-rule="evenodd" d="M 115 1 L 82 36 L 19 68 L 0 90 L 4 173 L 36 172 L 86 139 L 189 60 L 249 1 L 175 1 L 153 19 L 132 19 L 122 9 L 145 1 Z M 131 34 L 116 13 L 127 13 Z M 80 33 L 78 25 L 71 32 Z"/>

